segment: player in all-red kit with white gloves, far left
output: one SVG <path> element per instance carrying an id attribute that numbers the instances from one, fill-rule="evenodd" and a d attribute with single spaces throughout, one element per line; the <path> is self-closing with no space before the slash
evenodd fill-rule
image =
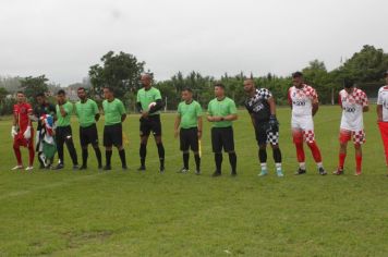
<path id="1" fill-rule="evenodd" d="M 13 138 L 13 151 L 15 152 L 17 166 L 12 170 L 23 169 L 21 146 L 28 148 L 28 167 L 26 171 L 34 169 L 34 128 L 32 127 L 29 115 L 33 114 L 33 108 L 26 102 L 23 91 L 16 94 L 16 105 L 13 106 L 13 125 L 11 136 Z"/>

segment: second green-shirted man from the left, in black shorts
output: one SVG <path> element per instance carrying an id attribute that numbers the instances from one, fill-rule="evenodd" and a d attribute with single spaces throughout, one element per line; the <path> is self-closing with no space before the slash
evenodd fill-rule
<path id="1" fill-rule="evenodd" d="M 87 146 L 92 144 L 95 150 L 98 169 L 102 169 L 101 151 L 98 147 L 98 133 L 96 122 L 99 120 L 97 103 L 87 98 L 84 87 L 77 89 L 80 101 L 75 103 L 75 114 L 80 122 L 80 142 L 82 147 L 82 166 L 80 170 L 87 169 Z"/>

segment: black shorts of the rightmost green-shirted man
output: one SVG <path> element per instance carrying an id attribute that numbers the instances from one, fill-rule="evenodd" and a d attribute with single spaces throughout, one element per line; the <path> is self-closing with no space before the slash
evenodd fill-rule
<path id="1" fill-rule="evenodd" d="M 211 146 L 214 152 L 234 151 L 233 127 L 213 127 Z"/>

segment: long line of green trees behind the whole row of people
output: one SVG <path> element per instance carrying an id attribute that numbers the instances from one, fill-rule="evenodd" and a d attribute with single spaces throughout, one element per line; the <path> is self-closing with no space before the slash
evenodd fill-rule
<path id="1" fill-rule="evenodd" d="M 85 86 L 89 88 L 90 96 L 100 101 L 102 88 L 110 86 L 128 109 L 134 110 L 136 91 L 141 87 L 140 76 L 145 72 L 145 64 L 133 54 L 109 51 L 102 56 L 100 63 L 89 68 L 87 79 L 72 84 L 70 87 L 75 89 L 78 86 Z M 383 73 L 388 70 L 388 53 L 383 49 L 366 45 L 332 71 L 327 71 L 325 63 L 319 60 L 313 60 L 306 68 L 300 70 L 304 73 L 305 81 L 317 89 L 323 103 L 337 101 L 336 96 L 342 88 L 344 79 L 354 81 L 357 87 L 373 98 L 376 97 L 378 87 L 384 84 Z M 147 72 L 150 73 L 149 70 Z M 270 89 L 278 105 L 287 103 L 287 91 L 291 85 L 291 77 L 270 73 L 263 76 L 226 73 L 220 78 L 216 78 L 195 71 L 186 75 L 178 72 L 170 79 L 155 81 L 154 85 L 160 89 L 163 97 L 167 97 L 167 108 L 170 110 L 175 109 L 181 101 L 180 95 L 184 87 L 191 87 L 195 94 L 194 97 L 203 107 L 206 107 L 207 102 L 214 98 L 213 84 L 215 81 L 221 81 L 227 87 L 228 96 L 233 98 L 237 105 L 242 105 L 245 98 L 242 85 L 246 77 L 253 78 L 256 86 Z M 14 100 L 7 97 L 10 93 L 22 89 L 28 100 L 34 102 L 36 93 L 50 90 L 54 94 L 59 88 L 59 85 L 50 84 L 45 75 L 0 77 L 0 114 L 12 113 Z"/>

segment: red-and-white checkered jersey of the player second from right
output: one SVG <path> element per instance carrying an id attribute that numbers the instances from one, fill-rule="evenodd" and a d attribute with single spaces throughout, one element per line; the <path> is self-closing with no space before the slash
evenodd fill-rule
<path id="1" fill-rule="evenodd" d="M 349 94 L 345 89 L 339 93 L 338 102 L 342 108 L 341 128 L 348 131 L 362 131 L 364 128 L 363 108 L 367 107 L 366 94 L 353 88 Z"/>

